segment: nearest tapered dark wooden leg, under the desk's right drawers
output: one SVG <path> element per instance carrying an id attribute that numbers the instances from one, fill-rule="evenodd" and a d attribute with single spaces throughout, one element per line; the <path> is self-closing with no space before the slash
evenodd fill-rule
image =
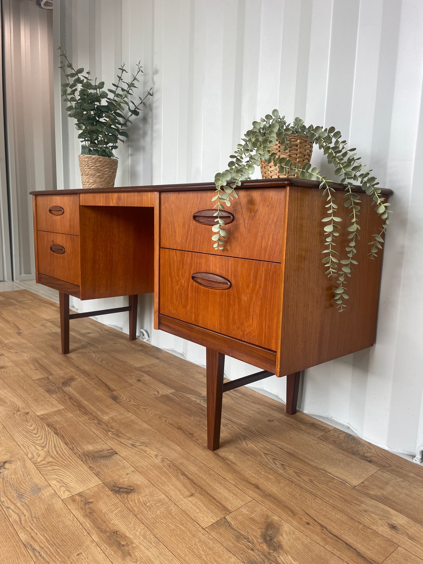
<path id="1" fill-rule="evenodd" d="M 215 451 L 221 440 L 224 354 L 206 349 L 207 448 Z"/>

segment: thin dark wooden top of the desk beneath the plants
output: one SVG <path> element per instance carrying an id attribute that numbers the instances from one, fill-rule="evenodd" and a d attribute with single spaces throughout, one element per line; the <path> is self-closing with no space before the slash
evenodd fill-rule
<path id="1" fill-rule="evenodd" d="M 302 188 L 319 188 L 318 180 L 303 180 L 301 178 L 270 178 L 258 180 L 244 180 L 239 188 L 284 188 L 286 186 L 300 186 Z M 331 184 L 335 190 L 345 190 L 345 186 L 339 183 Z M 31 195 L 40 196 L 55 195 L 55 194 L 87 194 L 90 192 L 182 192 L 182 191 L 197 191 L 197 190 L 214 190 L 214 182 L 201 182 L 192 184 L 158 184 L 153 186 L 123 186 L 118 188 L 74 188 L 73 190 L 37 190 L 29 192 Z M 239 189 L 238 188 L 238 189 Z M 360 186 L 354 186 L 353 192 L 363 192 Z M 381 188 L 381 193 L 384 196 L 391 196 L 392 190 L 389 188 Z"/>

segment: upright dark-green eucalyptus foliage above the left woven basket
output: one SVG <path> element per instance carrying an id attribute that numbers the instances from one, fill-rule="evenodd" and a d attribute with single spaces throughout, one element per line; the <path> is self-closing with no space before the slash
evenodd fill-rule
<path id="1" fill-rule="evenodd" d="M 81 155 L 97 155 L 114 157 L 113 151 L 117 149 L 118 142 L 125 143 L 128 138 L 125 128 L 132 124 L 130 116 L 139 116 L 142 106 L 148 96 L 152 96 L 152 88 L 147 90 L 144 98 L 139 98 L 138 104 L 131 100 L 134 90 L 138 88 L 138 76 L 143 72 L 140 63 L 136 65 L 136 72 L 130 80 L 124 80 L 125 63 L 119 67 L 116 83 L 113 88 L 104 89 L 104 82 L 91 80 L 90 71 L 75 69 L 69 61 L 67 54 L 61 49 L 60 67 L 66 77 L 66 82 L 61 85 L 61 95 L 69 103 L 66 111 L 69 117 L 76 120 L 75 127 L 81 133 Z M 127 114 L 125 115 L 125 112 Z"/>

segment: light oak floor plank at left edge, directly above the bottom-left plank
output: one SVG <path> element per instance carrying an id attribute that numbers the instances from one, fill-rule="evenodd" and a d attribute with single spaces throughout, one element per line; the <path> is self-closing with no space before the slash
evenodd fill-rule
<path id="1" fill-rule="evenodd" d="M 99 483 L 99 479 L 2 380 L 0 422 L 62 499 Z"/>

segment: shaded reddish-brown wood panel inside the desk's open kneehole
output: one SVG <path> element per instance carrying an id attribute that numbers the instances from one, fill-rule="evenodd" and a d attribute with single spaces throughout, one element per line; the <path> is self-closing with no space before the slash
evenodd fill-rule
<path id="1" fill-rule="evenodd" d="M 153 292 L 153 208 L 81 206 L 81 299 Z"/>

